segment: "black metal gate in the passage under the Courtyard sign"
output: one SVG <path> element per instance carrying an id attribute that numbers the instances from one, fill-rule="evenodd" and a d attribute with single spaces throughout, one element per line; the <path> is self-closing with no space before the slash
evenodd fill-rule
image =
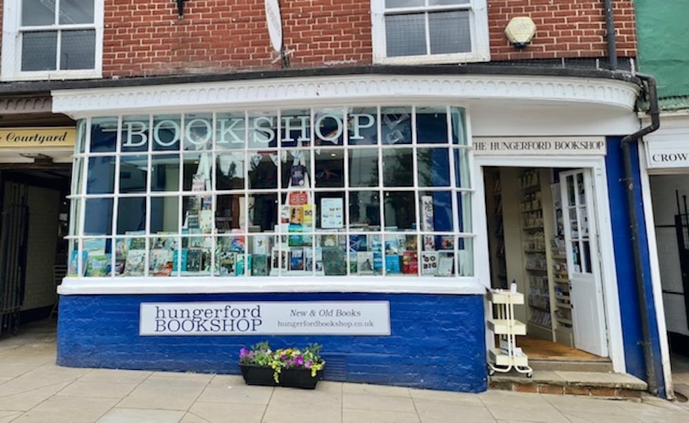
<path id="1" fill-rule="evenodd" d="M 29 208 L 25 185 L 5 183 L 0 227 L 0 333 L 16 332 L 24 302 Z"/>

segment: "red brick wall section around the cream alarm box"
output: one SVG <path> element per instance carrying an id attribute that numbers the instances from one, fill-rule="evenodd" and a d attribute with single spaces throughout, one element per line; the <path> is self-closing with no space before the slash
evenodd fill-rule
<path id="1" fill-rule="evenodd" d="M 528 60 L 607 56 L 603 0 L 488 0 L 491 59 Z M 504 29 L 513 17 L 531 17 L 536 35 L 524 50 Z M 636 56 L 632 0 L 613 0 L 617 56 Z"/>

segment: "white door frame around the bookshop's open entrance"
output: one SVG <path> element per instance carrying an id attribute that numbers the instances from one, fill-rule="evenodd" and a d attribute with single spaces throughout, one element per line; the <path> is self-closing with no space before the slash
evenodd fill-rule
<path id="1" fill-rule="evenodd" d="M 624 344 L 622 340 L 617 273 L 615 271 L 615 252 L 613 249 L 613 228 L 610 222 L 608 182 L 604 156 L 473 156 L 473 186 L 475 200 L 472 204 L 475 239 L 475 276 L 487 289 L 491 287 L 491 274 L 488 248 L 488 229 L 486 215 L 486 187 L 484 187 L 484 167 L 548 167 L 566 169 L 591 169 L 595 216 L 599 231 L 601 256 L 601 285 L 603 288 L 603 310 L 608 338 L 608 355 L 613 371 L 624 373 Z M 592 223 L 593 224 L 593 223 Z M 491 333 L 486 331 L 486 347 L 491 347 Z"/>

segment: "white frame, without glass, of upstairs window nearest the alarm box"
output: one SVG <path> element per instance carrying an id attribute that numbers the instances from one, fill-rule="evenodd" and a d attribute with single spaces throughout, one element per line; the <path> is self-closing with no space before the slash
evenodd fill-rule
<path id="1" fill-rule="evenodd" d="M 431 6 L 409 8 L 409 11 L 430 10 L 469 10 L 471 25 L 471 52 L 451 54 L 419 54 L 415 56 L 387 56 L 387 39 L 385 36 L 385 0 L 371 0 L 371 38 L 373 41 L 373 63 L 386 65 L 422 65 L 431 63 L 468 63 L 491 60 L 488 11 L 486 0 L 469 0 L 459 8 L 448 6 Z M 407 9 L 395 8 L 395 12 Z"/>

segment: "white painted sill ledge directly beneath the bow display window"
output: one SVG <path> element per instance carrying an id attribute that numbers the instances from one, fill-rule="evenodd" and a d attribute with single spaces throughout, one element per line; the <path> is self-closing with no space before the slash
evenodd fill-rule
<path id="1" fill-rule="evenodd" d="M 189 294 L 189 293 L 422 293 L 480 295 L 486 288 L 475 278 L 64 278 L 60 295 L 92 294 Z"/>

